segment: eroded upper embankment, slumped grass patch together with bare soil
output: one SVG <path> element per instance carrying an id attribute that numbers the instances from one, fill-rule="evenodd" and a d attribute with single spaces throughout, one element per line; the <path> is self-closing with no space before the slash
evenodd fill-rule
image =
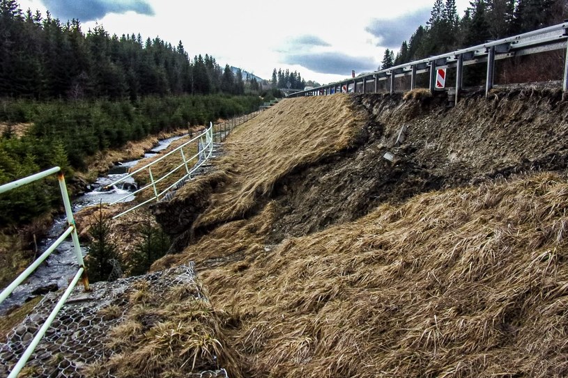
<path id="1" fill-rule="evenodd" d="M 217 171 L 160 205 L 158 220 L 181 251 L 218 226 L 270 213 L 254 234 L 277 244 L 425 191 L 567 166 L 568 113 L 558 90 L 472 93 L 453 108 L 445 96 L 418 94 L 286 100 L 233 134 Z M 396 144 L 402 127 L 406 139 Z"/>

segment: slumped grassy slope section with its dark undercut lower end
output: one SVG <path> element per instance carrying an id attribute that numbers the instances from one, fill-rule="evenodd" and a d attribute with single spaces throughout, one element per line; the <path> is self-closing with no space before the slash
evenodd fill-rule
<path id="1" fill-rule="evenodd" d="M 243 219 L 266 203 L 286 175 L 348 148 L 364 119 L 346 95 L 280 102 L 240 125 L 224 143 L 215 173 L 183 187 L 155 214 L 184 239 Z"/>

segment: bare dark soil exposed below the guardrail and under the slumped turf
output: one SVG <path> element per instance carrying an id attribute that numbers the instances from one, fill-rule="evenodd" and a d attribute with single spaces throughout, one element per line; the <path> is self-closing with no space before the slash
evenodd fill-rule
<path id="1" fill-rule="evenodd" d="M 353 221 L 381 203 L 399 203 L 425 191 L 567 167 L 568 111 L 558 88 L 502 88 L 487 99 L 481 91 L 466 93 L 455 107 L 448 107 L 445 93 L 406 99 L 401 94 L 367 94 L 353 101 L 354 109 L 367 113 L 367 121 L 351 142 L 314 162 L 293 166 L 275 178 L 270 191 L 257 191 L 254 204 L 243 213 L 250 217 L 275 200 L 279 212 L 266 244 Z M 406 139 L 396 144 L 403 126 Z M 386 152 L 394 155 L 392 162 L 384 158 Z M 186 196 L 160 205 L 165 210 L 158 210 L 159 221 L 174 237 L 185 234 L 175 244 L 177 251 L 231 220 L 221 216 L 195 232 L 194 221 L 208 216 L 214 206 L 217 212 L 224 208 L 214 198 L 233 187 L 236 179 L 229 176 L 254 180 L 238 163 L 231 164 L 236 173 L 220 164 L 220 172 L 198 182 Z"/>

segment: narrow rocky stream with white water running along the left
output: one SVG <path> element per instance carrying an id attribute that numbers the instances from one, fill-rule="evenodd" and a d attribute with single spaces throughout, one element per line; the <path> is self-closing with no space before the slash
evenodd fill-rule
<path id="1" fill-rule="evenodd" d="M 162 139 L 158 141 L 151 150 L 144 154 L 144 158 L 153 157 L 160 151 L 166 149 L 171 142 L 183 136 L 174 136 L 169 139 Z M 128 175 L 128 170 L 135 166 L 141 159 L 132 160 L 130 162 L 119 163 L 107 171 L 107 174 L 100 176 L 87 186 L 87 191 L 82 196 L 72 199 L 71 207 L 75 214 L 83 207 L 98 205 L 98 203 L 112 203 L 114 200 L 125 196 L 129 192 L 137 190 L 137 184 L 134 179 L 129 178 L 125 182 L 118 184 L 118 187 L 113 186 L 108 190 L 103 190 L 108 184 L 125 177 Z M 135 197 L 131 196 L 125 198 L 123 202 L 134 200 Z M 54 242 L 67 226 L 65 214 L 61 214 L 58 218 L 54 219 L 52 227 L 47 232 L 45 239 L 38 242 L 38 256 L 41 255 L 49 246 Z M 86 255 L 86 249 L 81 247 L 83 255 Z M 0 315 L 4 315 L 10 308 L 22 306 L 27 300 L 36 297 L 37 295 L 47 294 L 47 292 L 66 288 L 68 281 L 77 272 L 77 258 L 73 251 L 73 243 L 71 237 L 59 244 L 59 247 L 43 262 L 42 265 L 36 269 L 24 283 L 15 288 L 10 297 L 6 298 L 0 304 Z"/>

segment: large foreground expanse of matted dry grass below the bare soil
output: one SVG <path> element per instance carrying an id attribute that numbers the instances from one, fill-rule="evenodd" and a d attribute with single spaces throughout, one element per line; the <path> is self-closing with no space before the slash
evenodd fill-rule
<path id="1" fill-rule="evenodd" d="M 423 194 L 204 283 L 253 377 L 564 377 L 567 187 L 541 174 Z"/>

